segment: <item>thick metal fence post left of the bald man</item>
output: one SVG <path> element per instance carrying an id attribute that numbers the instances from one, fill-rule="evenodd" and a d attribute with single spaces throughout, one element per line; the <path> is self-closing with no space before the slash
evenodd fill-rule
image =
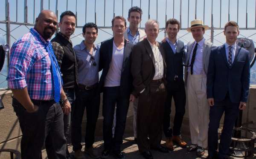
<path id="1" fill-rule="evenodd" d="M 8 0 L 6 0 L 6 3 L 5 3 L 5 10 L 6 10 L 6 43 L 8 43 L 9 45 L 11 45 L 11 33 L 10 33 L 10 17 L 9 17 L 9 2 Z M 10 51 L 7 52 L 7 74 L 9 72 L 9 56 L 10 56 Z M 9 87 L 9 83 L 8 83 L 8 87 Z"/>

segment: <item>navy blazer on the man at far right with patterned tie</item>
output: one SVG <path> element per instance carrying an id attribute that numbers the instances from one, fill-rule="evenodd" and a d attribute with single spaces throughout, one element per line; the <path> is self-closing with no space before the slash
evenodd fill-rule
<path id="1" fill-rule="evenodd" d="M 231 102 L 247 102 L 249 87 L 249 51 L 237 45 L 234 62 L 229 68 L 225 45 L 212 48 L 207 73 L 207 98 L 222 101 L 229 91 Z"/>

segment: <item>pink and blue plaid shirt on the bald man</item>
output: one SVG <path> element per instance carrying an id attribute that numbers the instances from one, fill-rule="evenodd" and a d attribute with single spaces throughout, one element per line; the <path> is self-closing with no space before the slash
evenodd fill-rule
<path id="1" fill-rule="evenodd" d="M 51 60 L 43 37 L 34 29 L 20 37 L 10 51 L 9 88 L 27 87 L 29 97 L 37 100 L 54 99 Z M 61 88 L 61 85 L 60 85 Z M 60 90 L 61 92 L 61 90 Z"/>

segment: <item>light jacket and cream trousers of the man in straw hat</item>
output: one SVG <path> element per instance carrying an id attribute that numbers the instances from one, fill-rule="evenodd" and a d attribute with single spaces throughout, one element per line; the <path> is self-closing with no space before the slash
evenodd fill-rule
<path id="1" fill-rule="evenodd" d="M 188 43 L 185 65 L 189 65 L 189 57 L 193 52 L 195 41 Z M 209 105 L 206 94 L 207 70 L 211 49 L 217 47 L 207 40 L 204 40 L 202 63 L 205 74 L 190 74 L 184 69 L 184 82 L 187 87 L 189 103 L 189 127 L 192 144 L 207 148 L 207 134 L 209 124 Z M 195 56 L 199 56 L 196 54 Z M 195 67 L 194 67 L 195 68 Z"/>

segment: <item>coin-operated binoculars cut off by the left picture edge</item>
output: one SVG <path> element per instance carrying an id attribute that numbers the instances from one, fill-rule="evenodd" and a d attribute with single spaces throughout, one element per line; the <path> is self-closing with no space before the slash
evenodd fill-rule
<path id="1" fill-rule="evenodd" d="M 3 64 L 5 61 L 5 57 L 6 57 L 6 52 L 9 51 L 10 46 L 8 44 L 5 43 L 5 40 L 3 38 L 3 35 L 0 34 L 0 71 L 3 68 Z M 0 98 L 0 109 L 3 109 L 3 102 L 2 99 Z"/>

